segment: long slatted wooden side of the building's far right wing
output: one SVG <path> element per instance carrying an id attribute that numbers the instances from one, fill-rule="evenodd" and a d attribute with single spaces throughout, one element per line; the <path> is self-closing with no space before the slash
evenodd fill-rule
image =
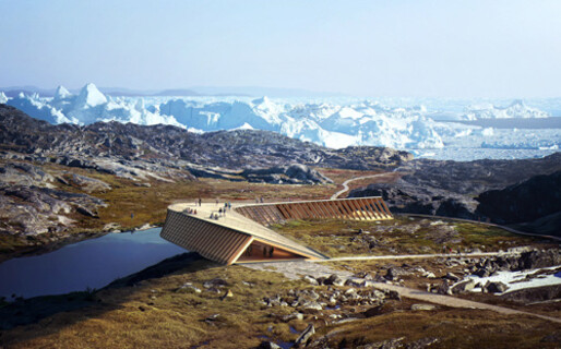
<path id="1" fill-rule="evenodd" d="M 393 219 L 384 201 L 378 196 L 248 205 L 236 212 L 264 226 L 287 219 Z"/>

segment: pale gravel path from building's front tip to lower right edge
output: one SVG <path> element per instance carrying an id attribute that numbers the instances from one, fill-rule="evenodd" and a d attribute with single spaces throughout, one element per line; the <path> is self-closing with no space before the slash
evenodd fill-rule
<path id="1" fill-rule="evenodd" d="M 243 266 L 253 268 L 253 269 L 265 270 L 265 272 L 278 272 L 278 273 L 284 274 L 289 279 L 299 279 L 305 275 L 311 275 L 313 277 L 320 277 L 320 276 L 326 277 L 332 274 L 337 274 L 343 278 L 351 277 L 351 274 L 349 272 L 335 270 L 325 264 L 310 263 L 307 261 L 252 263 L 252 264 L 243 264 Z M 557 317 L 539 315 L 539 314 L 517 311 L 517 310 L 510 309 L 510 308 L 469 301 L 469 300 L 465 300 L 465 299 L 461 299 L 461 298 L 455 298 L 452 296 L 429 293 L 429 292 L 425 292 L 421 290 L 416 290 L 413 288 L 392 285 L 392 284 L 375 282 L 372 287 L 374 287 L 377 289 L 381 289 L 381 290 L 396 291 L 399 293 L 401 297 L 416 299 L 416 300 L 420 300 L 420 301 L 429 302 L 429 303 L 433 303 L 433 304 L 440 304 L 440 305 L 452 306 L 452 308 L 490 310 L 490 311 L 494 311 L 494 312 L 505 314 L 505 315 L 529 315 L 529 316 L 535 316 L 535 317 L 539 317 L 542 320 L 552 321 L 552 322 L 561 324 L 561 318 L 557 318 Z"/>

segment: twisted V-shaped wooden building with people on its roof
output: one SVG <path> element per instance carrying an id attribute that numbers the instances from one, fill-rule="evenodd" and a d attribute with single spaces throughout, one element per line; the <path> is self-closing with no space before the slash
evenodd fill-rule
<path id="1" fill-rule="evenodd" d="M 223 213 L 220 213 L 220 210 Z M 280 236 L 267 226 L 289 219 L 393 219 L 381 197 L 266 204 L 175 204 L 168 207 L 162 238 L 223 263 L 323 260 L 325 255 Z"/>

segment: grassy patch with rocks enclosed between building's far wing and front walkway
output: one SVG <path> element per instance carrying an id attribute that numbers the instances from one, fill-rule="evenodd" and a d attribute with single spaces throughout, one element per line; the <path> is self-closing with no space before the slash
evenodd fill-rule
<path id="1" fill-rule="evenodd" d="M 293 220 L 272 227 L 332 256 L 422 254 L 452 251 L 499 251 L 538 245 L 538 240 L 515 236 L 477 222 L 453 222 L 396 217 L 392 220 Z M 362 230 L 362 233 L 359 231 Z M 444 249 L 445 246 L 445 249 Z"/>

